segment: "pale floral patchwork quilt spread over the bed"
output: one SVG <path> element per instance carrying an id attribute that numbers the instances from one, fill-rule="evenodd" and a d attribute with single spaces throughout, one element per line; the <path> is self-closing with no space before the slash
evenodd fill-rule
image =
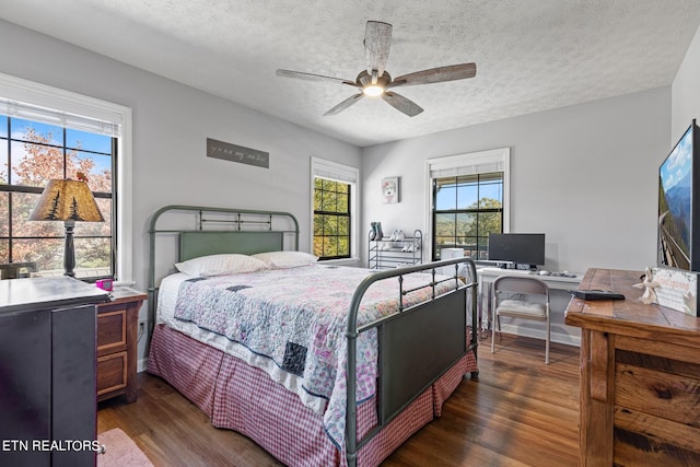
<path id="1" fill-rule="evenodd" d="M 174 317 L 224 336 L 262 355 L 296 376 L 303 390 L 327 400 L 323 413 L 330 440 L 343 445 L 346 421 L 345 337 L 350 300 L 366 269 L 312 265 L 211 278 L 190 278 L 179 285 Z M 427 301 L 430 275 L 404 278 L 404 290 L 419 289 L 405 305 Z M 454 288 L 440 284 L 436 293 Z M 371 285 L 364 294 L 358 324 L 396 313 L 399 285 L 396 278 Z M 376 331 L 358 339 L 358 402 L 375 392 Z"/>

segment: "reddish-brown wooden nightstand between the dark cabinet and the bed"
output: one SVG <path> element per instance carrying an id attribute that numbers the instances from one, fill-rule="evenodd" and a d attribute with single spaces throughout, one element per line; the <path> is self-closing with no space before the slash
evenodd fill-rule
<path id="1" fill-rule="evenodd" d="M 133 402 L 139 310 L 148 295 L 128 287 L 115 287 L 112 295 L 97 305 L 97 400 L 124 394 Z"/>

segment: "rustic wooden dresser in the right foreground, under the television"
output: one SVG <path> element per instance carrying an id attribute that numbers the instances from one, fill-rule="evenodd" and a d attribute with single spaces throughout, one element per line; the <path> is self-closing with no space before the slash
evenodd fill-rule
<path id="1" fill-rule="evenodd" d="M 580 466 L 700 465 L 700 318 L 639 301 L 640 271 L 590 269 L 572 299 L 581 328 Z"/>

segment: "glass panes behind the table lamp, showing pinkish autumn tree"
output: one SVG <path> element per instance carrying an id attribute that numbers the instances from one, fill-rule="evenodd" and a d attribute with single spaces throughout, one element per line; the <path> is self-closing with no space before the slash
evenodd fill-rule
<path id="1" fill-rule="evenodd" d="M 114 276 L 113 163 L 116 138 L 2 115 L 0 110 L 0 262 L 33 262 L 44 275 L 63 271 L 62 222 L 28 221 L 51 178 L 88 178 L 105 222 L 77 222 L 75 273 Z"/>

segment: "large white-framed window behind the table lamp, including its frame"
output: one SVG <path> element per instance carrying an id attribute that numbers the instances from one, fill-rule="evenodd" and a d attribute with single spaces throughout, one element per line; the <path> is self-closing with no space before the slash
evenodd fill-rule
<path id="1" fill-rule="evenodd" d="M 77 172 L 105 218 L 75 223 L 77 277 L 131 284 L 131 109 L 0 73 L 0 262 L 62 275 L 62 222 L 26 219 L 49 178 Z"/>

